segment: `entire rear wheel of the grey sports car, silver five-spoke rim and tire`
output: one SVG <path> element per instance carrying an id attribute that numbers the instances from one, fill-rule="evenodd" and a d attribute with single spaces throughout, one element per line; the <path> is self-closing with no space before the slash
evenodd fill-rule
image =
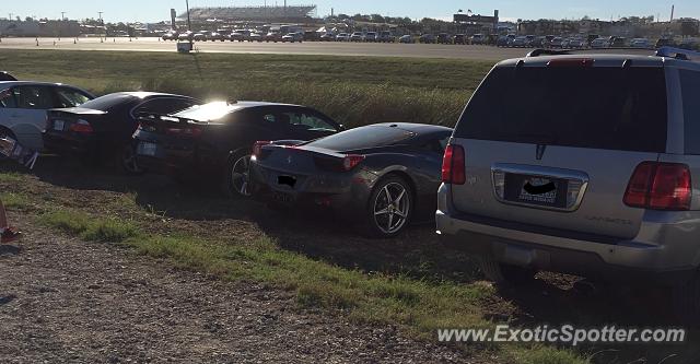
<path id="1" fill-rule="evenodd" d="M 369 208 L 370 233 L 380 237 L 400 234 L 413 213 L 413 191 L 398 176 L 381 180 L 372 190 Z"/>

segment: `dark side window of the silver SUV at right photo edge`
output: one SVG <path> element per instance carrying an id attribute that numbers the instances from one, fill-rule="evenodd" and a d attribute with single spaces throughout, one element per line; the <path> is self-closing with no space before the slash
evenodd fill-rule
<path id="1" fill-rule="evenodd" d="M 700 154 L 700 72 L 681 70 L 680 87 L 686 118 L 686 153 Z"/>

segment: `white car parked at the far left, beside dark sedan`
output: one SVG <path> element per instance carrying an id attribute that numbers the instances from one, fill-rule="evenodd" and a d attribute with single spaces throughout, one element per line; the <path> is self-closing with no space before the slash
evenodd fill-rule
<path id="1" fill-rule="evenodd" d="M 47 110 L 78 107 L 95 98 L 91 93 L 60 84 L 30 81 L 0 82 L 0 137 L 40 151 Z"/>

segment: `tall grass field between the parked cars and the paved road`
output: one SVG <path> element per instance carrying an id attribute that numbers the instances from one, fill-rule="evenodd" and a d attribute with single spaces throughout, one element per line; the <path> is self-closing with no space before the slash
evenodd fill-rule
<path id="1" fill-rule="evenodd" d="M 288 55 L 9 50 L 0 69 L 96 94 L 163 91 L 202 99 L 315 107 L 349 127 L 386 121 L 454 126 L 492 62 Z"/>

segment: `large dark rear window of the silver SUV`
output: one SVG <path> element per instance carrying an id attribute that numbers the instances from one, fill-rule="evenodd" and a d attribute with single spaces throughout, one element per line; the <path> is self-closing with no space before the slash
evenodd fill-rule
<path id="1" fill-rule="evenodd" d="M 455 137 L 662 153 L 662 68 L 495 68 L 469 101 Z"/>

